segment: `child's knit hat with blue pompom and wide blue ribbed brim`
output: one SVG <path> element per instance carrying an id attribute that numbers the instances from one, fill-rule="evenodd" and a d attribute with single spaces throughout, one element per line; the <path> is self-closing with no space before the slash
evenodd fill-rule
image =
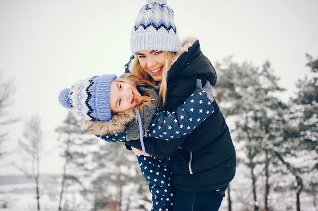
<path id="1" fill-rule="evenodd" d="M 78 81 L 71 88 L 60 91 L 59 102 L 86 120 L 109 121 L 112 119 L 109 89 L 116 78 L 116 75 L 102 75 Z"/>

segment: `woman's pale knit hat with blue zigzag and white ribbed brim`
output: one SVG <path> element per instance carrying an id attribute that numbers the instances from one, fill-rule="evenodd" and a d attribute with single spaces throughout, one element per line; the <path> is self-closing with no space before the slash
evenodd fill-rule
<path id="1" fill-rule="evenodd" d="M 147 0 L 139 11 L 132 31 L 132 53 L 150 50 L 177 52 L 180 48 L 173 11 L 167 0 Z"/>

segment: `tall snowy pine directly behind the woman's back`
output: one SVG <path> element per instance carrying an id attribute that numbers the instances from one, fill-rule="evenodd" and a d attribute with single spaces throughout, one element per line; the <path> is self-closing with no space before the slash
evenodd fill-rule
<path id="1" fill-rule="evenodd" d="M 234 119 L 232 126 L 234 140 L 243 142 L 246 157 L 241 158 L 250 170 L 254 210 L 258 210 L 257 179 L 265 172 L 264 208 L 269 209 L 270 163 L 274 153 L 274 143 L 280 138 L 283 113 L 288 109 L 277 93 L 284 91 L 277 85 L 270 63 L 262 69 L 244 62 L 242 65 L 225 59 L 220 68 L 216 86 L 216 100 L 227 118 Z"/>

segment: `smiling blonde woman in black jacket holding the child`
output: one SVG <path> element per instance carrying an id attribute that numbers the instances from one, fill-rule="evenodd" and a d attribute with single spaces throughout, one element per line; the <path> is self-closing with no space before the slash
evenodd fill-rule
<path id="1" fill-rule="evenodd" d="M 130 72 L 157 85 L 163 111 L 173 111 L 182 104 L 196 89 L 197 78 L 208 80 L 212 86 L 216 83 L 215 69 L 201 52 L 199 41 L 189 38 L 181 44 L 173 11 L 166 1 L 147 1 L 140 10 L 131 49 L 135 58 Z M 234 178 L 235 148 L 215 100 L 213 107 L 214 113 L 192 133 L 170 141 L 144 138 L 147 153 L 171 158 L 175 211 L 218 210 Z M 169 125 L 163 123 L 160 127 Z M 141 149 L 138 140 L 126 144 Z"/>

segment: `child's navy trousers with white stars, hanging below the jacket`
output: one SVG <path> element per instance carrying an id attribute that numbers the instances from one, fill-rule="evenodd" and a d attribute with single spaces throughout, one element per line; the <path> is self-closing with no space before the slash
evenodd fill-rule
<path id="1" fill-rule="evenodd" d="M 141 173 L 147 180 L 152 194 L 151 211 L 170 211 L 174 201 L 170 157 L 157 159 L 137 155 Z"/>

